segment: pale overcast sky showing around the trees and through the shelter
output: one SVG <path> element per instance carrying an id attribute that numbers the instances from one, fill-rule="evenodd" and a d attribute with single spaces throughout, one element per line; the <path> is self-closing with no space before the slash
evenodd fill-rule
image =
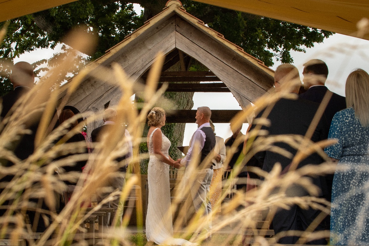
<path id="1" fill-rule="evenodd" d="M 138 4 L 134 4 L 137 13 L 141 11 Z M 37 49 L 32 52 L 24 53 L 14 62 L 26 61 L 36 62 L 41 59 L 48 59 L 54 53 L 59 52 L 61 45 L 52 49 Z M 326 86 L 331 91 L 345 96 L 345 81 L 349 73 L 361 68 L 369 72 L 369 41 L 359 38 L 349 37 L 342 34 L 334 34 L 324 39 L 323 43 L 315 44 L 313 48 L 305 48 L 306 53 L 291 52 L 291 56 L 299 71 L 301 80 L 303 64 L 310 59 L 321 59 L 327 63 L 329 74 Z M 281 63 L 274 60 L 275 64 L 271 67 L 276 69 Z M 212 110 L 241 110 L 237 100 L 232 93 L 194 93 L 194 106 L 196 110 L 200 106 L 208 106 Z M 195 121 L 195 119 L 194 119 Z M 218 136 L 226 139 L 232 135 L 228 123 L 216 123 L 215 132 Z M 241 132 L 245 134 L 248 124 L 244 124 Z M 186 124 L 184 131 L 183 145 L 188 145 L 193 132 L 197 129 L 194 123 Z"/>

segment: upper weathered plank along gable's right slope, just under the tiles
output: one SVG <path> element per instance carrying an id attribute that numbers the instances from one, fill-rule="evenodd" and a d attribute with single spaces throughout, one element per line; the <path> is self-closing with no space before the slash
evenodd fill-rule
<path id="1" fill-rule="evenodd" d="M 247 77 L 249 82 L 258 84 L 265 91 L 273 86 L 273 77 L 268 73 L 264 72 L 262 69 L 259 69 L 253 63 L 239 55 L 237 52 L 232 51 L 232 49 L 224 44 L 221 44 L 213 37 L 210 37 L 210 35 L 207 35 L 203 31 L 194 28 L 193 25 L 182 20 L 180 17 L 177 17 L 176 20 L 176 31 L 205 49 L 214 57 L 235 69 L 237 72 Z M 189 53 L 187 54 L 190 55 Z M 207 64 L 204 65 L 207 66 Z M 212 69 L 210 70 L 213 71 Z"/>

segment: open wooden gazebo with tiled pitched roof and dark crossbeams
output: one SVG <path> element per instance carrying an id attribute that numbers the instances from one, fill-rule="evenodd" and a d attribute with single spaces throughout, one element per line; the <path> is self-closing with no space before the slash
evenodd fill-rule
<path id="1" fill-rule="evenodd" d="M 231 92 L 239 105 L 245 108 L 273 85 L 273 70 L 187 13 L 180 1 L 170 0 L 161 13 L 88 65 L 92 68 L 91 76 L 86 77 L 67 104 L 82 113 L 103 110 L 106 105 L 116 104 L 121 91 L 118 86 L 107 83 L 113 80 L 113 76 L 101 79 L 94 75 L 99 73 L 100 68 L 118 63 L 132 80 L 145 80 L 160 51 L 166 54 L 166 58 L 159 82 L 176 82 L 170 83 L 167 91 Z M 187 71 L 190 58 L 210 71 Z M 178 62 L 179 72 L 167 71 Z M 178 83 L 196 81 L 216 83 Z M 65 95 L 68 84 L 62 86 L 64 90 L 59 98 Z M 193 122 L 195 112 L 178 110 L 167 121 Z M 214 122 L 229 122 L 237 112 L 214 110 L 212 119 Z M 101 120 L 96 121 L 92 129 L 101 124 Z"/>

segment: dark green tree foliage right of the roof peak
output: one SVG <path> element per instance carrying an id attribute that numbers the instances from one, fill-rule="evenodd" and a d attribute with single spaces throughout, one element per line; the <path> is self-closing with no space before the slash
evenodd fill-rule
<path id="1" fill-rule="evenodd" d="M 290 51 L 305 52 L 323 42 L 332 32 L 317 30 L 286 21 L 210 6 L 195 1 L 182 1 L 187 12 L 220 32 L 226 39 L 242 47 L 245 52 L 272 66 L 275 57 L 282 63 L 292 63 Z"/>

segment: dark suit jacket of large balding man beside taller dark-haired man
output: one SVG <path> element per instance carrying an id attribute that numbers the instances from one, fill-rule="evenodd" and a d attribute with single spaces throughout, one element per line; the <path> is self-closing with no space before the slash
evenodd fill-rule
<path id="1" fill-rule="evenodd" d="M 315 112 L 318 109 L 318 106 L 319 105 L 317 103 L 313 103 L 302 98 L 298 98 L 297 100 L 282 98 L 277 101 L 272 111 L 268 115 L 270 126 L 263 126 L 262 129 L 267 130 L 269 135 L 297 134 L 303 136 L 306 134 L 307 129 L 313 120 Z M 260 118 L 261 115 L 262 112 L 258 114 L 256 118 Z M 251 129 L 255 128 L 255 126 L 256 125 L 253 124 Z M 323 115 L 318 122 L 311 140 L 313 142 L 318 142 L 320 140 L 327 139 L 328 131 L 329 128 L 327 119 Z M 296 155 L 297 150 L 286 143 L 277 142 L 274 145 L 287 150 L 288 152 L 292 153 L 293 156 Z M 262 169 L 268 172 L 272 170 L 276 162 L 281 163 L 282 169 L 284 169 L 292 161 L 292 159 L 272 151 L 259 152 L 255 155 L 255 157 L 259 163 L 263 164 Z M 322 162 L 323 159 L 321 159 L 318 154 L 314 153 L 299 163 L 298 168 L 307 164 L 320 164 Z M 318 178 L 314 178 L 313 183 L 321 188 L 322 194 L 327 194 L 327 184 L 324 177 L 320 176 Z"/>

